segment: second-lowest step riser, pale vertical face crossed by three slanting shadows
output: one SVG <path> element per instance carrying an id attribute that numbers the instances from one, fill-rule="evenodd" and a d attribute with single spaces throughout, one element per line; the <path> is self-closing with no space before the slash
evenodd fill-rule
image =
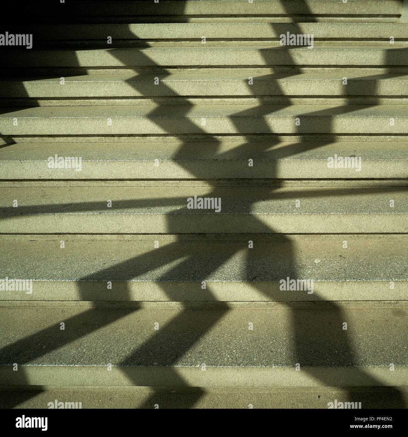
<path id="1" fill-rule="evenodd" d="M 62 268 L 62 266 L 60 267 Z M 256 272 L 253 272 L 256 274 Z M 301 274 L 301 272 L 299 272 Z M 21 273 L 20 276 L 21 277 Z M 248 272 L 250 276 L 250 272 Z M 10 277 L 3 274 L 2 279 Z M 303 277 L 303 276 L 302 276 Z M 202 278 L 201 278 L 202 279 Z M 282 278 L 286 281 L 286 277 Z M 315 281 L 313 279 L 313 281 Z M 281 291 L 280 282 L 240 282 L 206 281 L 210 295 L 202 293 L 202 281 L 110 281 L 112 289 L 107 290 L 108 281 L 37 281 L 34 280 L 30 294 L 27 290 L 1 291 L 2 306 L 9 302 L 12 306 L 31 302 L 34 305 L 49 305 L 60 302 L 67 305 L 72 302 L 81 307 L 81 302 L 120 302 L 121 308 L 133 308 L 137 302 L 195 302 L 198 309 L 205 309 L 209 302 L 354 302 L 354 301 L 406 301 L 408 285 L 404 281 L 392 281 L 394 290 L 390 290 L 390 281 L 316 281 L 312 290 Z M 28 290 L 30 291 L 30 290 Z M 200 306 L 201 304 L 201 306 Z M 250 305 L 250 304 L 249 304 Z"/>

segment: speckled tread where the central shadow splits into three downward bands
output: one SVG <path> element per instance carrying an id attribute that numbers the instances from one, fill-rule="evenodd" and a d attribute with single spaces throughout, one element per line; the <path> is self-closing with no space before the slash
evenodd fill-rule
<path id="1" fill-rule="evenodd" d="M 73 240 L 70 236 L 54 236 L 48 241 L 32 241 L 33 238 L 15 236 L 12 242 L 0 241 L 0 278 L 134 279 L 199 281 L 200 284 L 204 280 L 279 281 L 287 276 L 316 282 L 408 280 L 408 241 L 387 239 L 387 236 L 370 240 L 351 235 L 336 239 L 307 236 L 295 240 L 251 235 L 226 240 L 217 236 L 202 240 L 178 236 L 174 241 L 159 235 L 140 240 L 129 236 L 123 241 L 84 237 Z M 61 238 L 65 241 L 64 250 L 60 249 Z M 248 249 L 249 239 L 253 241 L 253 249 Z M 346 249 L 343 249 L 344 240 Z M 159 245 L 156 249 L 155 241 Z M 384 292 L 388 291 L 391 299 L 393 292 L 387 284 L 384 285 L 388 290 Z"/>

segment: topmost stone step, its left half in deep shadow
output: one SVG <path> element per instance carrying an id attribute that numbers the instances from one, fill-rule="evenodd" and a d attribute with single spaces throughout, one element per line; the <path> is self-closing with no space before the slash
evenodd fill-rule
<path id="1" fill-rule="evenodd" d="M 28 19 L 38 14 L 38 7 L 28 5 L 21 11 Z M 41 11 L 40 22 L 154 22 L 154 21 L 399 21 L 402 0 L 338 0 L 284 1 L 87 1 L 52 3 Z M 35 15 L 37 15 L 35 14 Z M 32 21 L 31 21 L 32 22 Z"/>

